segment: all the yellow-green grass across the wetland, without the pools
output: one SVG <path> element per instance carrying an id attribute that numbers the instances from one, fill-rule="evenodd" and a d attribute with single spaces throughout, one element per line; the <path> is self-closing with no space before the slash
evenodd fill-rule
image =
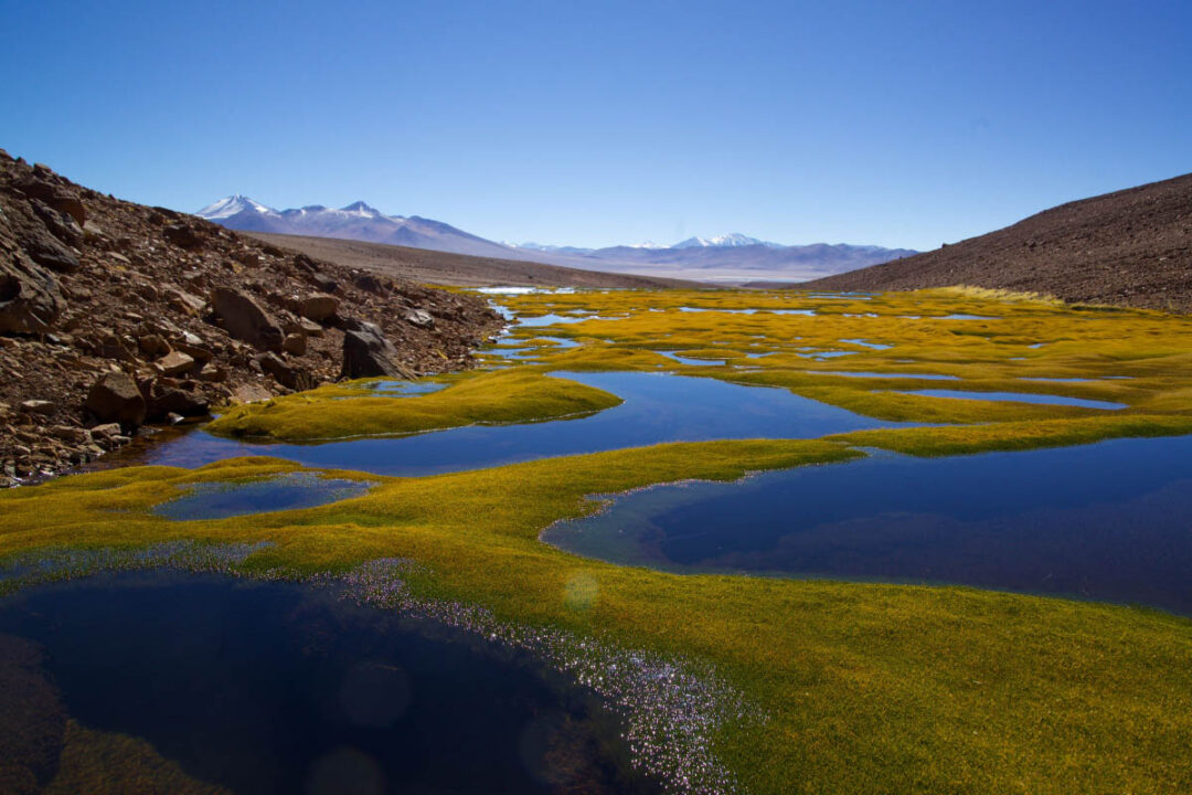
<path id="1" fill-rule="evenodd" d="M 533 398 L 541 384 L 558 380 L 548 372 L 668 369 L 789 389 L 869 416 L 933 427 L 817 441 L 658 446 L 426 478 L 339 472 L 379 485 L 333 505 L 205 522 L 170 522 L 147 509 L 190 483 L 299 467 L 237 459 L 193 472 L 122 470 L 0 495 L 0 557 L 197 539 L 269 541 L 272 547 L 249 559 L 249 566 L 261 569 L 334 571 L 375 558 L 412 558 L 429 572 L 412 579 L 422 594 L 483 604 L 517 622 L 715 664 L 770 716 L 762 726 L 726 727 L 716 741 L 715 751 L 752 793 L 1192 791 L 1192 622 L 1186 619 L 964 588 L 677 576 L 579 559 L 538 541 L 552 522 L 595 510 L 586 495 L 799 465 L 848 466 L 843 461 L 859 455 L 857 447 L 943 455 L 1190 433 L 1187 318 L 1088 311 L 970 290 L 870 300 L 772 291 L 577 292 L 499 300 L 526 315 L 586 310 L 627 317 L 515 329 L 519 343 L 536 347 L 533 364 L 458 378 L 439 393 L 371 398 L 349 385 L 311 393 L 318 398 L 306 408 L 299 399 L 311 395 L 246 414 L 285 415 L 275 406 L 292 402 L 292 412 L 268 433 L 359 435 L 374 411 L 359 400 L 435 406 L 436 396 L 443 400 L 467 384 L 493 379 L 508 391 L 491 402 L 484 390 L 465 391 L 465 400 L 422 420 L 443 424 L 414 430 L 492 421 L 467 418 L 468 403 L 513 411 L 516 418 L 496 421 L 517 422 L 558 409 Z M 679 311 L 683 306 L 768 311 Z M 819 313 L 769 311 L 789 309 Z M 944 319 L 949 313 L 997 319 Z M 544 336 L 581 344 L 558 349 Z M 849 339 L 893 347 L 874 350 L 844 342 Z M 1031 347 L 1038 342 L 1044 347 Z M 654 350 L 728 365 L 682 365 Z M 808 358 L 817 350 L 855 353 Z M 771 355 L 749 359 L 750 353 Z M 892 378 L 825 374 L 830 371 Z M 956 380 L 907 378 L 924 373 Z M 898 393 L 923 389 L 1066 395 L 1128 408 Z M 342 415 L 346 404 L 360 409 L 350 418 L 330 420 L 331 433 L 310 430 L 308 423 Z M 565 598 L 567 584 L 581 574 L 596 583 L 586 609 Z"/>

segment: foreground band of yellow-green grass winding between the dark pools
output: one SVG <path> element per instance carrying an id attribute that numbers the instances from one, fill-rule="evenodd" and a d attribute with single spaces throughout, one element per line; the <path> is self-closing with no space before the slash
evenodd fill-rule
<path id="1" fill-rule="evenodd" d="M 237 459 L 142 467 L 0 495 L 0 555 L 170 539 L 269 541 L 261 569 L 381 557 L 420 592 L 626 647 L 710 662 L 769 720 L 715 752 L 751 793 L 1180 793 L 1192 788 L 1192 622 L 1159 611 L 966 588 L 677 576 L 538 540 L 609 493 L 843 461 L 831 441 L 721 441 L 426 478 L 300 511 L 172 522 L 148 509 L 200 480 L 298 467 Z M 846 462 L 831 464 L 848 466 Z M 337 477 L 359 477 L 336 473 Z M 595 597 L 565 598 L 583 576 Z"/>

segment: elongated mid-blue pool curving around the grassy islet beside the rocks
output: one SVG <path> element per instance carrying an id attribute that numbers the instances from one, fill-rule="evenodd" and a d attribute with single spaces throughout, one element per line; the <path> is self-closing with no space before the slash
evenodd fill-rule
<path id="1" fill-rule="evenodd" d="M 783 389 L 668 373 L 558 373 L 625 399 L 575 420 L 471 426 L 412 436 L 322 445 L 269 445 L 194 431 L 155 446 L 145 462 L 194 467 L 237 455 L 275 455 L 308 466 L 377 474 L 458 472 L 553 455 L 712 439 L 814 439 L 882 422 Z"/>

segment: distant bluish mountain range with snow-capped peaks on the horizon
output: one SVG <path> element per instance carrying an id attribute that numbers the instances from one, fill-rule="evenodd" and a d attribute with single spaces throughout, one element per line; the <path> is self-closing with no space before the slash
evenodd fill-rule
<path id="1" fill-rule="evenodd" d="M 713 281 L 803 281 L 917 254 L 909 249 L 846 243 L 782 246 L 738 232 L 689 237 L 673 246 L 651 242 L 598 249 L 515 246 L 485 240 L 430 218 L 387 216 L 364 201 L 340 209 L 310 205 L 274 210 L 244 195 L 230 195 L 195 215 L 241 231 L 355 240 L 589 271 Z"/>

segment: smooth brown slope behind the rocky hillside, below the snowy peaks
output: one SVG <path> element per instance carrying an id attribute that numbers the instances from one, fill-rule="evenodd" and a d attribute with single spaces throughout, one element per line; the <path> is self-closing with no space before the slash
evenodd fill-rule
<path id="1" fill-rule="evenodd" d="M 268 232 L 238 234 L 349 268 L 365 268 L 397 279 L 457 287 L 628 287 L 644 290 L 710 287 L 697 281 L 583 271 L 559 265 L 498 260 L 386 243 Z"/>

